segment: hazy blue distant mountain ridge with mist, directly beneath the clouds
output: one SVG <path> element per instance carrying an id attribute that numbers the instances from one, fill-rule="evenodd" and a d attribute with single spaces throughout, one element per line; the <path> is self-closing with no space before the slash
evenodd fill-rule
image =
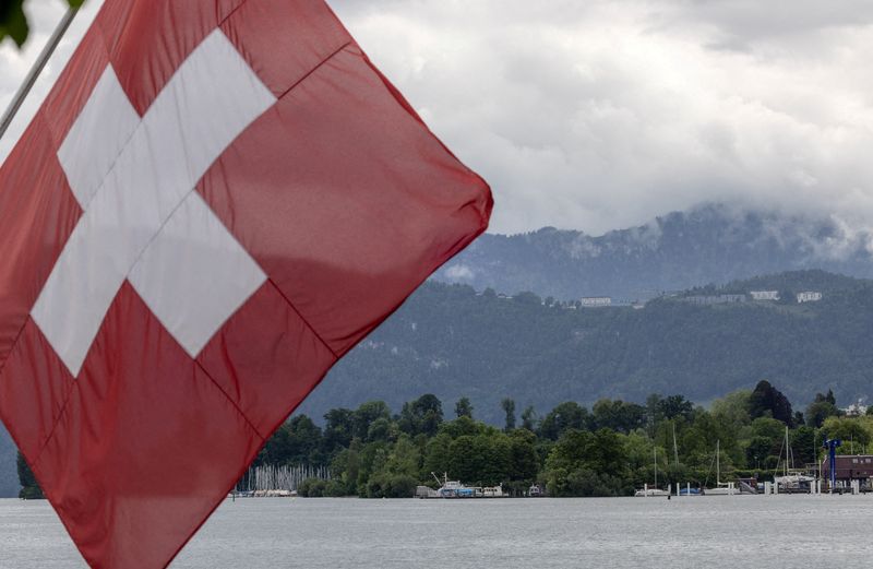
<path id="1" fill-rule="evenodd" d="M 635 300 L 663 291 L 823 269 L 873 277 L 873 236 L 829 217 L 707 205 L 594 237 L 543 228 L 482 235 L 434 278 L 478 291 Z"/>

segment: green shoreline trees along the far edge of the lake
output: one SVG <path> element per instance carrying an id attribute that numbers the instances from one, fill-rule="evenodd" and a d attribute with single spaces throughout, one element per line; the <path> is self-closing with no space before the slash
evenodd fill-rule
<path id="1" fill-rule="evenodd" d="M 873 407 L 871 407 L 873 410 Z M 781 461 L 786 429 L 792 466 L 821 461 L 825 437 L 842 439 L 841 453 L 863 453 L 873 438 L 873 415 L 846 416 L 832 391 L 804 411 L 768 381 L 736 391 L 708 407 L 683 395 L 650 395 L 645 403 L 603 399 L 590 408 L 569 401 L 539 415 L 517 413 L 503 399 L 502 427 L 476 419 L 468 398 L 446 411 L 426 394 L 393 414 L 382 401 L 356 410 L 334 408 L 319 426 L 296 415 L 267 440 L 254 465 L 325 466 L 331 479 L 304 481 L 301 496 L 412 496 L 435 487 L 432 473 L 467 485 L 523 495 L 533 484 L 551 496 L 627 496 L 658 482 L 714 485 L 716 443 L 721 482 L 772 479 Z M 19 460 L 22 497 L 38 497 L 26 463 Z"/>

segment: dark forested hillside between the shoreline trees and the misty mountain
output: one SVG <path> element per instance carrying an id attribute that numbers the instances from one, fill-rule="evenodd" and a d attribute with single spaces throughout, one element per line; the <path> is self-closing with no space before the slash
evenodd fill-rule
<path id="1" fill-rule="evenodd" d="M 778 289 L 779 303 L 697 306 L 683 296 Z M 818 303 L 793 294 L 820 291 Z M 337 406 L 422 392 L 468 396 L 497 423 L 502 398 L 519 408 L 562 401 L 644 401 L 683 393 L 696 402 L 761 379 L 798 401 L 833 389 L 865 396 L 873 374 L 873 283 L 804 271 L 662 297 L 645 308 L 577 308 L 534 294 L 429 283 L 339 363 L 304 403 L 321 417 Z"/>

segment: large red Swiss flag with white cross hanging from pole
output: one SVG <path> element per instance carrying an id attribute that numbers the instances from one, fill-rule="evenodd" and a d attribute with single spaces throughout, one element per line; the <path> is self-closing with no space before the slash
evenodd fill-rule
<path id="1" fill-rule="evenodd" d="M 93 567 L 164 567 L 487 185 L 321 0 L 107 0 L 0 168 L 0 416 Z"/>

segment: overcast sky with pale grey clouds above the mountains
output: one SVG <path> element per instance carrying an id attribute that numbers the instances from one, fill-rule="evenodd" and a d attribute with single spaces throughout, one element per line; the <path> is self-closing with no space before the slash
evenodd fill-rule
<path id="1" fill-rule="evenodd" d="M 99 3 L 86 2 L 0 157 Z M 873 225 L 873 2 L 330 3 L 491 183 L 492 232 L 599 234 L 705 202 Z M 0 47 L 3 107 L 63 12 L 29 4 L 27 49 Z"/>

